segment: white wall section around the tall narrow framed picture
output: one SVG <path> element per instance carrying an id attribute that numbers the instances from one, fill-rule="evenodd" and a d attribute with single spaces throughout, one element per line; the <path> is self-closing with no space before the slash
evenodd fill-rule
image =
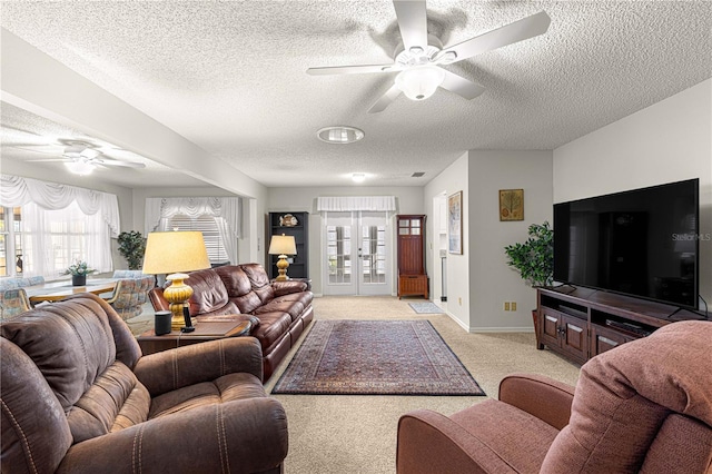
<path id="1" fill-rule="evenodd" d="M 447 167 L 443 172 L 437 175 L 431 182 L 425 185 L 423 196 L 423 207 L 428 209 L 433 207 L 433 198 L 442 192 L 447 196 L 457 191 L 463 191 L 463 203 L 466 205 L 463 213 L 463 255 L 447 255 L 447 313 L 449 316 L 466 330 L 469 330 L 469 211 L 467 203 L 469 196 L 468 184 L 468 159 L 465 152 L 455 162 Z M 427 220 L 426 233 L 426 259 L 427 268 L 435 268 L 441 265 L 438 254 L 439 238 L 436 231 L 437 223 L 434 219 Z M 429 270 L 428 270 L 429 273 Z"/>

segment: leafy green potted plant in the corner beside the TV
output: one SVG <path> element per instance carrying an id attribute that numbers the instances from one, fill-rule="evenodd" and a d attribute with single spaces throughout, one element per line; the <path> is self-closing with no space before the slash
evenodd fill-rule
<path id="1" fill-rule="evenodd" d="M 524 243 L 504 247 L 507 265 L 515 268 L 532 288 L 550 286 L 554 283 L 554 230 L 548 221 L 532 224 L 528 236 Z M 532 317 L 536 345 L 540 347 L 536 309 L 532 310 Z"/>

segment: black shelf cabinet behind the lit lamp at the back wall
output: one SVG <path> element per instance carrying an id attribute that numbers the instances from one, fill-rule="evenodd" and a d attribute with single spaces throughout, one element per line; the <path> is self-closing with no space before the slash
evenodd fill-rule
<path id="1" fill-rule="evenodd" d="M 269 213 L 267 216 L 267 241 L 265 253 L 269 249 L 269 241 L 274 235 L 294 236 L 297 255 L 288 256 L 289 278 L 309 278 L 309 213 Z M 277 277 L 277 255 L 267 255 L 267 275 Z"/>

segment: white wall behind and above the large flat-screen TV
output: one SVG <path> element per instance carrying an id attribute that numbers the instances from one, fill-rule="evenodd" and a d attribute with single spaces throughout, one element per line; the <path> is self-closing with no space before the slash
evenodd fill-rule
<path id="1" fill-rule="evenodd" d="M 712 236 L 712 79 L 554 150 L 554 203 L 700 178 L 700 231 Z M 700 240 L 712 304 L 712 240 Z"/>

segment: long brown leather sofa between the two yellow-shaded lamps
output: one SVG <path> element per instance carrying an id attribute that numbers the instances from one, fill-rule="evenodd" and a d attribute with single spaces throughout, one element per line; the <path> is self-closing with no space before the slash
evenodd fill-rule
<path id="1" fill-rule="evenodd" d="M 190 316 L 199 322 L 224 315 L 253 320 L 251 336 L 263 348 L 267 381 L 314 318 L 313 293 L 304 280 L 270 282 L 259 264 L 226 265 L 192 271 L 185 280 L 192 288 Z M 154 309 L 167 310 L 162 288 L 149 297 Z"/>

